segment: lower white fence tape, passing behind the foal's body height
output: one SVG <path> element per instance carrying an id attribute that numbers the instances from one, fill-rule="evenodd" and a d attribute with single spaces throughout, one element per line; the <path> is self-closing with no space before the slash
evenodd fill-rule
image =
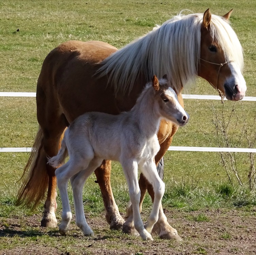
<path id="1" fill-rule="evenodd" d="M 0 148 L 0 152 L 31 152 L 31 150 L 32 150 L 32 148 Z M 255 153 L 256 149 L 170 146 L 168 151 L 247 152 L 247 153 L 252 152 L 252 153 Z"/>

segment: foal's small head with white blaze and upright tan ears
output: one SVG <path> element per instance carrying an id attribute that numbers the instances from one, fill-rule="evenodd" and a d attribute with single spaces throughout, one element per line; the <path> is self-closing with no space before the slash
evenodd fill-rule
<path id="1" fill-rule="evenodd" d="M 184 126 L 189 120 L 189 115 L 178 102 L 177 94 L 168 86 L 166 76 L 158 81 L 156 75 L 152 79 L 153 88 L 158 98 L 159 111 L 163 118 Z"/>

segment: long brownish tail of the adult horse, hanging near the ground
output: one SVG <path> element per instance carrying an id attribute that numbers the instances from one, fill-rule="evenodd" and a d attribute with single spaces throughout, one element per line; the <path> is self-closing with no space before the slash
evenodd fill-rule
<path id="1" fill-rule="evenodd" d="M 45 159 L 43 131 L 39 128 L 28 163 L 21 176 L 22 185 L 18 191 L 17 205 L 25 204 L 33 210 L 44 198 L 49 182 Z"/>

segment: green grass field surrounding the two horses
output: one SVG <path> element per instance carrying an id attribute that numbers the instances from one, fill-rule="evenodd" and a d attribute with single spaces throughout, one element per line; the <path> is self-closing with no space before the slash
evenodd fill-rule
<path id="1" fill-rule="evenodd" d="M 246 96 L 255 97 L 256 8 L 254 1 L 244 0 L 236 2 L 219 0 L 1 1 L 0 91 L 35 92 L 44 58 L 64 41 L 101 40 L 121 48 L 149 32 L 155 24 L 161 24 L 183 9 L 202 13 L 209 7 L 211 12 L 217 15 L 224 15 L 234 8 L 230 21 L 244 49 Z M 215 90 L 202 79 L 198 79 L 197 84 L 184 93 L 216 95 Z M 226 116 L 232 111 L 233 104 L 232 102 L 224 103 Z M 191 119 L 186 128 L 178 130 L 172 145 L 218 146 L 212 123 L 215 118 L 212 107 L 218 112 L 222 111 L 220 101 L 185 100 L 185 108 Z M 256 115 L 255 102 L 237 102 L 235 115 L 241 125 L 245 120 L 253 137 L 255 135 L 253 133 L 255 127 L 252 126 Z M 233 128 L 234 126 L 235 124 Z M 37 129 L 35 98 L 0 98 L 0 147 L 31 147 Z M 236 130 L 235 136 L 240 136 L 239 130 Z M 246 141 L 242 139 L 237 146 L 247 147 Z M 167 251 L 172 254 L 220 254 L 227 249 L 227 243 L 235 243 L 237 240 L 236 234 L 233 234 L 227 223 L 223 223 L 227 225 L 220 227 L 221 233 L 214 237 L 216 243 L 220 242 L 222 245 L 219 248 L 212 248 L 210 241 L 201 243 L 201 239 L 205 236 L 192 234 L 189 230 L 192 227 L 208 229 L 210 225 L 214 228 L 218 224 L 218 221 L 215 222 L 219 217 L 217 215 L 220 215 L 218 210 L 222 211 L 221 215 L 227 215 L 227 219 L 240 217 L 249 222 L 255 221 L 255 193 L 239 186 L 233 187 L 228 183 L 225 169 L 217 153 L 167 152 L 164 172 L 166 192 L 163 207 L 167 217 L 172 218 L 176 224 L 174 227 L 178 228 L 178 232 L 182 235 L 184 240 L 182 244 L 156 238 L 153 243 L 155 248 L 151 249 L 147 244 L 138 241 L 138 237 L 109 231 L 106 222 L 102 219 L 104 208 L 100 190 L 94 183 L 94 176 L 90 177 L 89 184 L 84 190 L 84 201 L 86 216 L 96 229 L 95 239 L 82 238 L 74 222 L 70 235 L 60 237 L 58 229 L 39 227 L 43 205 L 35 212 L 15 206 L 17 189 L 20 185 L 17 181 L 28 157 L 28 153 L 0 153 L 2 180 L 0 183 L 0 254 L 18 254 L 18 252 L 20 254 L 43 254 L 43 252 L 46 254 L 110 254 L 111 251 L 112 254 L 141 255 L 154 254 L 154 249 L 157 249 L 156 254 L 159 252 L 165 254 Z M 245 182 L 249 163 L 246 154 L 237 153 L 237 165 Z M 111 178 L 116 202 L 124 214 L 128 193 L 119 164 L 113 164 Z M 119 185 L 116 185 L 117 183 Z M 71 194 L 70 200 L 72 200 Z M 60 219 L 59 197 L 58 204 L 57 217 Z M 150 199 L 146 197 L 144 219 L 148 215 L 150 205 Z M 221 219 L 223 218 L 220 217 L 220 224 Z M 241 226 L 238 227 L 238 232 L 244 235 L 249 233 L 246 229 L 250 227 L 246 228 L 243 223 L 237 223 L 236 226 Z M 228 231 L 229 227 L 230 231 Z M 220 230 L 216 231 L 218 233 Z M 122 240 L 121 243 L 120 240 Z M 211 240 L 210 237 L 209 240 Z M 90 245 L 96 248 L 84 249 L 87 246 L 91 247 Z M 164 250 L 159 247 L 163 247 Z M 230 252 L 235 252 L 236 249 L 239 253 L 242 248 L 234 244 Z M 126 253 L 126 250 L 130 253 Z M 245 254 L 246 251 L 245 249 Z"/>

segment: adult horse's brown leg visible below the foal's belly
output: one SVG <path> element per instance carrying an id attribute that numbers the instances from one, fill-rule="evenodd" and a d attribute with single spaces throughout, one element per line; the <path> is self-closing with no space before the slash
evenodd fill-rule
<path id="1" fill-rule="evenodd" d="M 97 177 L 97 183 L 99 184 L 101 190 L 103 203 L 106 210 L 106 220 L 110 224 L 111 229 L 121 229 L 125 221 L 119 213 L 111 188 L 111 161 L 103 160 L 101 166 L 98 167 L 94 172 Z"/>

